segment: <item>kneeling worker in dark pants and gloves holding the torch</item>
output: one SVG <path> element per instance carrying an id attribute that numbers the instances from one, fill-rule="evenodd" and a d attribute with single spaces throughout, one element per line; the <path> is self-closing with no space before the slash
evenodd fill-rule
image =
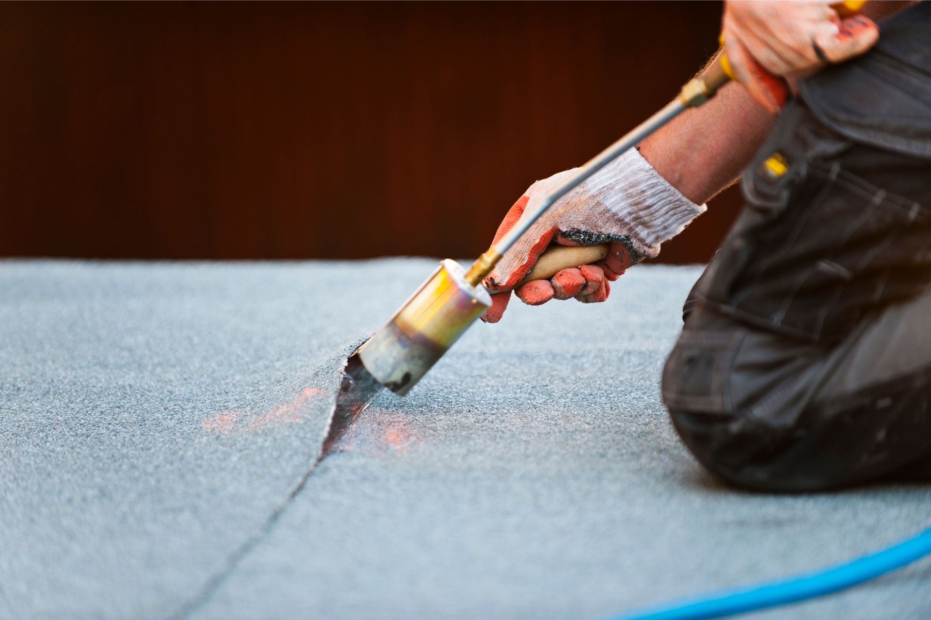
<path id="1" fill-rule="evenodd" d="M 517 296 L 603 302 L 742 170 L 743 212 L 663 372 L 681 438 L 752 489 L 931 479 L 931 0 L 843 19 L 830 0 L 728 0 L 723 40 L 740 84 L 560 199 L 485 281 L 482 318 L 551 243 L 611 250 Z M 565 174 L 533 183 L 497 237 Z"/>

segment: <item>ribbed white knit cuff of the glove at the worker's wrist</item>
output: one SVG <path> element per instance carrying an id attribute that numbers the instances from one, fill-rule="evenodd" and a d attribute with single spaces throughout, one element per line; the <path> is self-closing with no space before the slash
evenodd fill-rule
<path id="1" fill-rule="evenodd" d="M 590 194 L 636 231 L 644 246 L 638 250 L 651 257 L 659 253 L 659 244 L 708 209 L 670 185 L 637 149 L 614 159 L 586 184 Z"/>

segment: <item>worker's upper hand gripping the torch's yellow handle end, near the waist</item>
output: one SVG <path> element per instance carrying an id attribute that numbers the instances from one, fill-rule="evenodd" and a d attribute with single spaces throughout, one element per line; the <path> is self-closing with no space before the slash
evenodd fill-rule
<path id="1" fill-rule="evenodd" d="M 724 52 L 737 81 L 776 112 L 785 97 L 777 76 L 804 74 L 862 54 L 879 39 L 863 15 L 841 18 L 836 0 L 725 0 Z"/>

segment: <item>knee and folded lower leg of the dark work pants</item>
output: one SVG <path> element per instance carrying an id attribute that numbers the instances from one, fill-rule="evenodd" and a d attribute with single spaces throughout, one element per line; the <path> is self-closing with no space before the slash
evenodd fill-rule
<path id="1" fill-rule="evenodd" d="M 817 345 L 698 303 L 663 374 L 681 438 L 739 486 L 931 479 L 931 288 Z"/>

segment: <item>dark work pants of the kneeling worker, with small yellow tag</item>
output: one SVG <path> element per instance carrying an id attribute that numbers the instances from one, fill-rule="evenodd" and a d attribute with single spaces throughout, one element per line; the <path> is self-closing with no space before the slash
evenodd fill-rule
<path id="1" fill-rule="evenodd" d="M 931 479 L 931 159 L 794 101 L 743 190 L 663 372 L 681 438 L 752 489 Z"/>

